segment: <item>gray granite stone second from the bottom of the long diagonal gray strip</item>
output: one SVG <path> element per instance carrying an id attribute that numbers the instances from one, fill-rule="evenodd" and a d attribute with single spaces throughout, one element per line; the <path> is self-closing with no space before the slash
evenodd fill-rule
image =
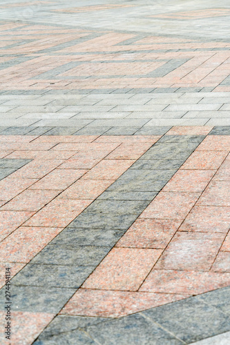
<path id="1" fill-rule="evenodd" d="M 11 281 L 12 285 L 79 288 L 95 266 L 28 264 Z"/>

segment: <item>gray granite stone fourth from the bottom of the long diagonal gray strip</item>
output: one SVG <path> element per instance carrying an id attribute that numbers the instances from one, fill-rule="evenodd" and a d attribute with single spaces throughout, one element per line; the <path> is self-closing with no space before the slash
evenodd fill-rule
<path id="1" fill-rule="evenodd" d="M 63 244 L 65 246 L 115 246 L 118 239 L 122 237 L 124 230 L 102 230 L 91 228 L 66 228 L 59 236 L 50 242 L 50 245 Z"/>

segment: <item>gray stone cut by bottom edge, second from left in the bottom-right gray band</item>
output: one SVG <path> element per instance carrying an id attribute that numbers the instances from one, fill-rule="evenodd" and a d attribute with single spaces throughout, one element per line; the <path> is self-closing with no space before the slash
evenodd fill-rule
<path id="1" fill-rule="evenodd" d="M 140 314 L 102 322 L 86 328 L 87 333 L 103 345 L 182 345 L 172 333 Z"/>

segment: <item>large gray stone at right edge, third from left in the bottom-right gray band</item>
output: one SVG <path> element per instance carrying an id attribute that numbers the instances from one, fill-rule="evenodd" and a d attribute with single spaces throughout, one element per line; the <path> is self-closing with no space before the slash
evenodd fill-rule
<path id="1" fill-rule="evenodd" d="M 230 317 L 197 297 L 149 309 L 142 314 L 186 344 L 230 331 Z"/>

